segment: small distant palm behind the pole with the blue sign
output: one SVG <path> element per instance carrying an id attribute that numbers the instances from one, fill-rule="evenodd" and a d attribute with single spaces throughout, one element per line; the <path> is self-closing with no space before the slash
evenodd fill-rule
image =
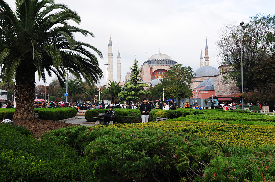
<path id="1" fill-rule="evenodd" d="M 74 99 L 76 94 L 86 94 L 86 88 L 82 86 L 77 79 L 74 80 L 68 80 L 68 97 L 71 103 L 74 103 Z M 60 87 L 57 89 L 58 93 L 57 95 L 63 95 L 66 92 L 66 88 Z"/>

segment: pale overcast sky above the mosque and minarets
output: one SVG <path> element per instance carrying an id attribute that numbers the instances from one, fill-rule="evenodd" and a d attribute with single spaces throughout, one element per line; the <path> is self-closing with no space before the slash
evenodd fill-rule
<path id="1" fill-rule="evenodd" d="M 7 0 L 14 6 L 14 0 Z M 200 51 L 205 55 L 207 37 L 209 65 L 218 69 L 215 59 L 218 31 L 226 24 L 247 22 L 257 14 L 274 14 L 272 0 L 55 0 L 75 10 L 82 21 L 78 27 L 94 33 L 95 39 L 76 35 L 76 39 L 97 47 L 106 84 L 108 43 L 113 45 L 113 77 L 117 80 L 117 53 L 121 56 L 121 80 L 125 80 L 134 59 L 139 67 L 154 54 L 167 54 L 178 64 L 200 68 Z M 204 60 L 204 59 L 203 59 Z M 48 77 L 49 85 L 52 78 Z M 44 82 L 41 81 L 44 85 Z M 36 84 L 39 84 L 36 76 Z"/>

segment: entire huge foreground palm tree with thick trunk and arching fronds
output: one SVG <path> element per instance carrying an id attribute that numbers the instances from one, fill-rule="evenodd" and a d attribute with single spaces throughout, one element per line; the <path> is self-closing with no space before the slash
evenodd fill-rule
<path id="1" fill-rule="evenodd" d="M 0 0 L 0 66 L 10 82 L 15 78 L 17 119 L 34 119 L 35 72 L 39 80 L 56 75 L 64 87 L 66 70 L 78 80 L 92 85 L 103 76 L 94 46 L 75 40 L 74 33 L 94 37 L 93 33 L 70 26 L 80 23 L 76 12 L 54 0 L 15 0 L 15 12 Z M 2 69 L 2 70 L 3 70 Z"/>

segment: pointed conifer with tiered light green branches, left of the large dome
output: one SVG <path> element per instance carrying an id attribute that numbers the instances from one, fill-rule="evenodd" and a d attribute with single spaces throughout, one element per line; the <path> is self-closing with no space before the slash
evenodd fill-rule
<path id="1" fill-rule="evenodd" d="M 130 69 L 132 73 L 130 81 L 124 85 L 122 91 L 118 94 L 118 96 L 121 97 L 121 100 L 127 100 L 128 102 L 140 100 L 140 96 L 148 95 L 150 93 L 149 91 L 144 90 L 148 85 L 146 83 L 141 83 L 141 80 L 138 79 L 138 74 L 141 70 L 138 69 L 138 61 L 136 59 L 134 60 L 133 68 L 130 67 Z"/>

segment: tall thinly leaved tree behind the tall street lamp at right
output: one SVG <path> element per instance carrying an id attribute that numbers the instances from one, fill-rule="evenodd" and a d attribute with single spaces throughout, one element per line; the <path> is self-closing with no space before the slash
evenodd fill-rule
<path id="1" fill-rule="evenodd" d="M 254 90 L 253 81 L 255 66 L 270 55 L 274 48 L 275 16 L 251 17 L 241 27 L 236 24 L 226 25 L 219 32 L 218 57 L 220 64 L 231 64 L 233 72 L 226 76 L 226 83 L 237 81 L 241 90 L 241 41 L 243 50 L 243 80 L 244 88 Z M 241 36 L 241 37 L 240 37 Z"/>

